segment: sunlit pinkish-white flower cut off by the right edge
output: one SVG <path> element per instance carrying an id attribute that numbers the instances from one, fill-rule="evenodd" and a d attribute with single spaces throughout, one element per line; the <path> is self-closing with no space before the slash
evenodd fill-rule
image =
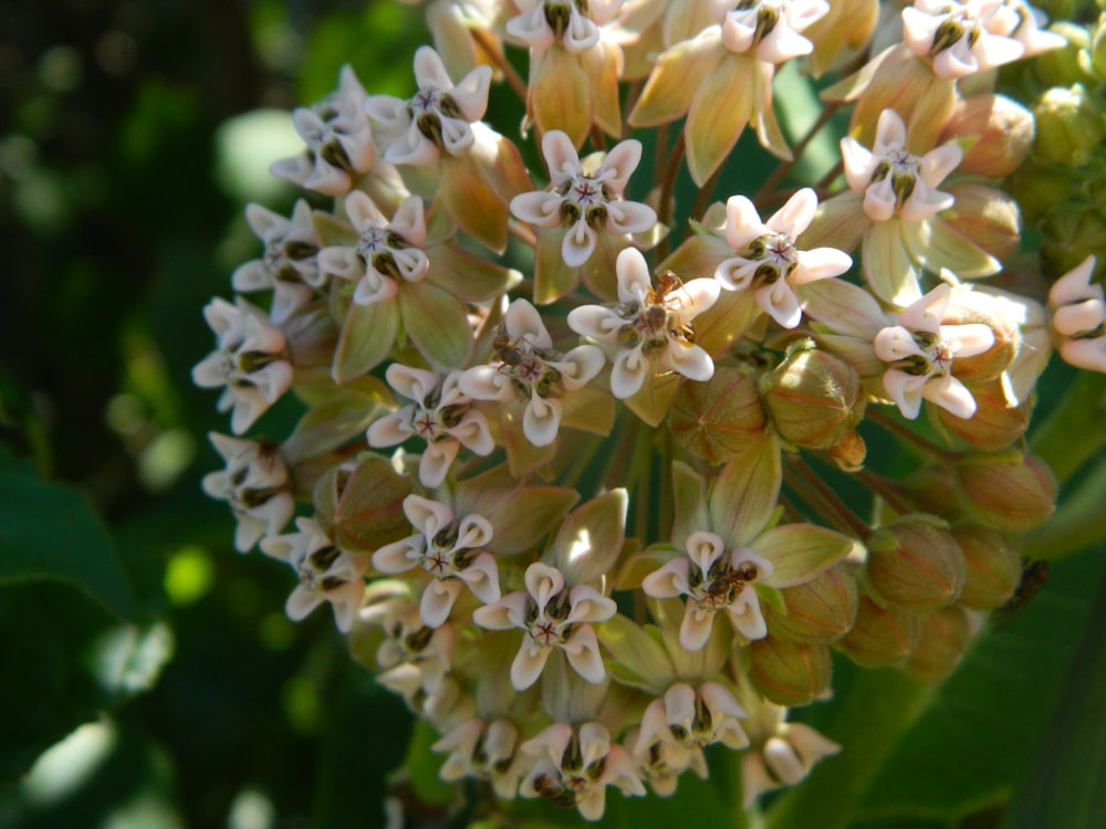
<path id="1" fill-rule="evenodd" d="M 1106 302 L 1092 284 L 1095 258 L 1087 256 L 1048 290 L 1052 330 L 1060 356 L 1076 368 L 1106 371 Z"/>

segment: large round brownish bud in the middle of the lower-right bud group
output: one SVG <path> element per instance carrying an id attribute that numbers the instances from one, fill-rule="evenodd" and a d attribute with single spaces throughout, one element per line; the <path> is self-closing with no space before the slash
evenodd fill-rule
<path id="1" fill-rule="evenodd" d="M 901 518 L 867 539 L 868 580 L 889 604 L 915 612 L 936 610 L 960 595 L 964 557 L 945 522 Z"/>

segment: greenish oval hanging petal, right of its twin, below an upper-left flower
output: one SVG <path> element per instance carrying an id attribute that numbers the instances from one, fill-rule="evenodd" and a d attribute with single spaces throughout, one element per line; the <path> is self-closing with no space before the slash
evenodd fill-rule
<path id="1" fill-rule="evenodd" d="M 472 350 L 472 329 L 465 306 L 429 282 L 399 288 L 399 314 L 421 355 L 440 368 L 460 368 Z"/>

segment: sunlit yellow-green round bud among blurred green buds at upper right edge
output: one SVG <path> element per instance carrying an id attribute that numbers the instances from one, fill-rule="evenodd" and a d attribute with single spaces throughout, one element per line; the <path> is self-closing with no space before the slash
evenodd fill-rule
<path id="1" fill-rule="evenodd" d="M 1106 139 L 1106 114 L 1082 84 L 1048 90 L 1033 108 L 1036 155 L 1046 161 L 1084 167 Z"/>

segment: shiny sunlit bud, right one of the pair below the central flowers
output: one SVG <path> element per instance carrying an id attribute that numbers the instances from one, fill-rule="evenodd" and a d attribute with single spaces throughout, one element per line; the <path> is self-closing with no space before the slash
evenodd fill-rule
<path id="1" fill-rule="evenodd" d="M 849 440 L 864 417 L 860 376 L 813 339 L 790 346 L 760 385 L 775 430 L 796 447 L 827 449 Z"/>

